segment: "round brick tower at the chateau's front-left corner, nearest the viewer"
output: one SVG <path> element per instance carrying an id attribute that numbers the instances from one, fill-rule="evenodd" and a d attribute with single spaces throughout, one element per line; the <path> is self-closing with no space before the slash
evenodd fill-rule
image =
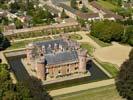
<path id="1" fill-rule="evenodd" d="M 36 73 L 38 79 L 45 80 L 45 58 L 41 56 L 36 60 Z"/>

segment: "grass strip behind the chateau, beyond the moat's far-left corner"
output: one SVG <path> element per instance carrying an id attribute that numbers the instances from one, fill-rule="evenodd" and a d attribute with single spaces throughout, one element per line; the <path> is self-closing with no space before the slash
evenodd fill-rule
<path id="1" fill-rule="evenodd" d="M 9 48 L 7 48 L 7 50 L 24 48 L 28 43 L 37 42 L 37 41 L 46 41 L 46 40 L 49 40 L 49 39 L 50 39 L 50 37 L 14 42 L 14 43 L 11 44 L 11 46 Z"/>

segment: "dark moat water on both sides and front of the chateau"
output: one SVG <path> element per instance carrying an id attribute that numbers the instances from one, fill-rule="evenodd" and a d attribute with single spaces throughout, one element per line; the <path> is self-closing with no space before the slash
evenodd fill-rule
<path id="1" fill-rule="evenodd" d="M 17 57 L 8 57 L 7 60 L 11 66 L 12 71 L 15 73 L 17 80 L 28 81 L 30 79 L 30 76 L 21 62 L 22 58 L 25 58 L 25 55 L 17 56 Z M 99 80 L 105 80 L 109 78 L 93 62 L 91 65 L 87 64 L 87 70 L 90 71 L 91 76 L 80 78 L 80 79 L 74 79 L 71 81 L 49 84 L 49 85 L 46 85 L 46 89 L 51 90 L 51 89 L 57 89 L 57 88 L 62 88 L 62 87 L 69 87 L 73 85 L 79 85 L 79 84 L 84 84 L 84 83 L 89 83 L 89 82 L 94 82 L 94 81 L 99 81 Z"/>

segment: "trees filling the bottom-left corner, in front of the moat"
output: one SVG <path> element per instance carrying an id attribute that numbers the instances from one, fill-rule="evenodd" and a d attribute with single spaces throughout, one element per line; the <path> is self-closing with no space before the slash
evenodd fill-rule
<path id="1" fill-rule="evenodd" d="M 40 80 L 31 78 L 13 84 L 9 70 L 9 66 L 0 64 L 0 100 L 51 100 Z"/>

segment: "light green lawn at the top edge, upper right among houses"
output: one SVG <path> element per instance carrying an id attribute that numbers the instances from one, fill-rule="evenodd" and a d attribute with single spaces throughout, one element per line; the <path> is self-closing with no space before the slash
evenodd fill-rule
<path id="1" fill-rule="evenodd" d="M 104 1 L 104 0 L 98 0 L 97 3 L 101 5 L 103 8 L 106 8 L 112 11 L 116 11 L 119 8 L 117 5 L 114 5 L 111 2 Z"/>

